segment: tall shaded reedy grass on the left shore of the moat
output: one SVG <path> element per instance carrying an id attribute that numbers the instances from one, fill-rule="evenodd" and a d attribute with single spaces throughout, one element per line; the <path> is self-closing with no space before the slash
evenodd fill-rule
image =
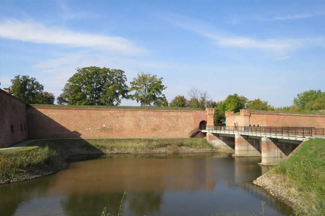
<path id="1" fill-rule="evenodd" d="M 32 148 L 28 151 L 1 152 L 0 180 L 14 179 L 35 168 L 57 167 L 58 154 L 48 146 Z"/>

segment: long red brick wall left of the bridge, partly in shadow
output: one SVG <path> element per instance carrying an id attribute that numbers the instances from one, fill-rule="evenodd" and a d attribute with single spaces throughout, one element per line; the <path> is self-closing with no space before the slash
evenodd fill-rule
<path id="1" fill-rule="evenodd" d="M 29 138 L 188 137 L 206 111 L 27 108 Z"/>

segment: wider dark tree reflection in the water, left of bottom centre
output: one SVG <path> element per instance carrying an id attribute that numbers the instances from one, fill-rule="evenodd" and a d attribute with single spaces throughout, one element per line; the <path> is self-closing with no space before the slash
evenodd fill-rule
<path id="1" fill-rule="evenodd" d="M 122 197 L 123 193 L 71 194 L 66 199 L 61 200 L 61 206 L 65 213 L 71 216 L 98 216 L 101 215 L 105 206 L 110 215 L 117 215 Z"/>

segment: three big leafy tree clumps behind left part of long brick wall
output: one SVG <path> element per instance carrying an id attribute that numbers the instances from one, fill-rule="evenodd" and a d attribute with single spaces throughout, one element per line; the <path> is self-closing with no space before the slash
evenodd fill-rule
<path id="1" fill-rule="evenodd" d="M 141 106 L 168 106 L 163 78 L 141 72 L 130 87 L 126 81 L 125 72 L 119 69 L 77 68 L 56 100 L 63 105 L 118 106 L 122 99 L 131 99 Z M 28 104 L 54 104 L 54 95 L 43 92 L 43 85 L 34 77 L 17 75 L 11 83 L 11 94 Z"/>

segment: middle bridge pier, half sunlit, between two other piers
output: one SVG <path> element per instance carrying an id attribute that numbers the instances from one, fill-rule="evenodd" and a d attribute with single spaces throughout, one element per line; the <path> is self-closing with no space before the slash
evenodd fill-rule
<path id="1" fill-rule="evenodd" d="M 235 134 L 235 157 L 261 157 L 261 140 Z"/>

